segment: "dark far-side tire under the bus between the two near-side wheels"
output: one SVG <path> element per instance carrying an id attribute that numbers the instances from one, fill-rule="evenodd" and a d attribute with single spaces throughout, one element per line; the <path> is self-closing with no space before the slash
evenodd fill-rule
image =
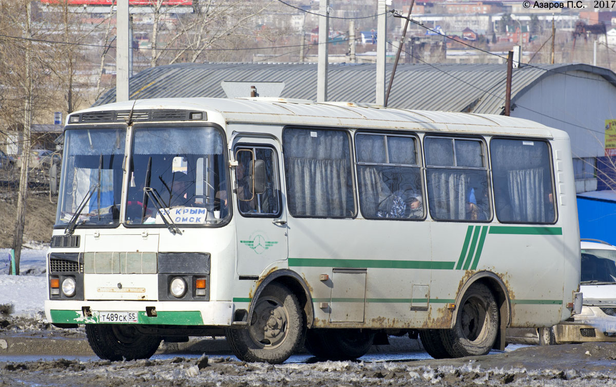
<path id="1" fill-rule="evenodd" d="M 306 349 L 318 359 L 355 360 L 368 352 L 374 338 L 369 329 L 310 329 Z"/>

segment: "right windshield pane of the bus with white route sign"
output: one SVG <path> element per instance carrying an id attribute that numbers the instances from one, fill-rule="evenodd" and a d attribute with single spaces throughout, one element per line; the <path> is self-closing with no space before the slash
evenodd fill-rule
<path id="1" fill-rule="evenodd" d="M 210 127 L 136 128 L 126 224 L 223 222 L 229 215 L 223 144 Z"/>

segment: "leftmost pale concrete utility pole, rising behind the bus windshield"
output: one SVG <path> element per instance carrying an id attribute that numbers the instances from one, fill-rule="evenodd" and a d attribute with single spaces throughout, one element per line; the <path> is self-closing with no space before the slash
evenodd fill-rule
<path id="1" fill-rule="evenodd" d="M 116 14 L 116 102 L 128 101 L 128 0 L 118 0 Z"/>

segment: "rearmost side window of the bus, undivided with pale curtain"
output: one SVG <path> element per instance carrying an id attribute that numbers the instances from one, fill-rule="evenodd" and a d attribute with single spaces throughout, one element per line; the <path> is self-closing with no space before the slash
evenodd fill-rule
<path id="1" fill-rule="evenodd" d="M 512 223 L 556 221 L 548 143 L 493 139 L 490 151 L 496 219 Z"/>

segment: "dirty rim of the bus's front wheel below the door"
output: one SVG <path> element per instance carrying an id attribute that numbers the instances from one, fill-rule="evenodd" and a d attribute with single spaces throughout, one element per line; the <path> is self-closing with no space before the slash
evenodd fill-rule
<path id="1" fill-rule="evenodd" d="M 276 348 L 285 341 L 288 320 L 288 311 L 280 299 L 261 297 L 254 307 L 250 336 L 262 348 Z"/>

